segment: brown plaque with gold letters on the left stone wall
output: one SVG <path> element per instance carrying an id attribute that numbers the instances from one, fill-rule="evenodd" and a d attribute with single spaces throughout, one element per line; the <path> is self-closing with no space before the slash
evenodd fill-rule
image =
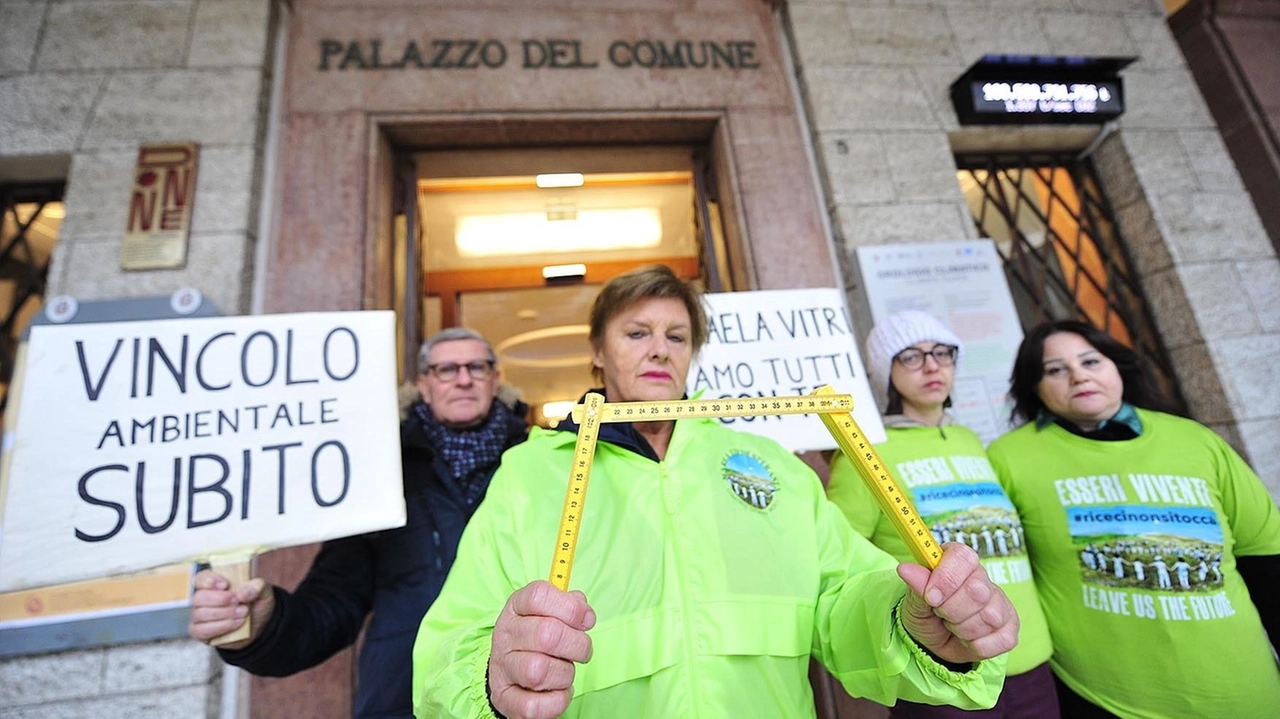
<path id="1" fill-rule="evenodd" d="M 143 145 L 138 150 L 120 243 L 122 270 L 161 270 L 187 264 L 198 156 L 200 146 L 195 142 Z"/>

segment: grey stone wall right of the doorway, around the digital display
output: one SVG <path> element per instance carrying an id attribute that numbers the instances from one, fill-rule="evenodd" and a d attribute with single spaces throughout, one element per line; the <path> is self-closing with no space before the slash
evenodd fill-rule
<path id="1" fill-rule="evenodd" d="M 1128 110 L 1096 160 L 1193 416 L 1243 449 L 1280 495 L 1276 370 L 1257 356 L 1280 343 L 1280 266 L 1161 4 L 791 3 L 787 12 L 846 257 L 864 243 L 973 235 L 943 160 L 1002 141 L 959 127 L 950 107 L 950 82 L 975 58 L 1137 55 L 1124 72 Z M 1052 132 L 1028 128 L 1018 142 Z"/>

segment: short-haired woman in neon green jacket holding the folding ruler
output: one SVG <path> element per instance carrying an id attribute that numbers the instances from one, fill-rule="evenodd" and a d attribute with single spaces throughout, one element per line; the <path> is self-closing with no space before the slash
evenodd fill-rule
<path id="1" fill-rule="evenodd" d="M 611 280 L 590 328 L 611 402 L 680 399 L 707 338 L 663 266 Z M 855 696 L 996 701 L 1018 617 L 977 554 L 895 573 L 794 454 L 714 420 L 602 425 L 575 590 L 539 580 L 570 430 L 503 457 L 419 631 L 417 716 L 805 718 L 810 655 Z"/>

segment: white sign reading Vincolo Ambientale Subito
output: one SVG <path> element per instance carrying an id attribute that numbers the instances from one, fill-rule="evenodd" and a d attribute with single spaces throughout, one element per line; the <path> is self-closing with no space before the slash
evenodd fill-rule
<path id="1" fill-rule="evenodd" d="M 0 591 L 402 526 L 394 321 L 32 328 Z"/>

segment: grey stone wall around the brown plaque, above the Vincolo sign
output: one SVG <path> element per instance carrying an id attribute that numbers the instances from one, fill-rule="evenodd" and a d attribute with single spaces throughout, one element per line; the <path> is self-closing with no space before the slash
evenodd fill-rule
<path id="1" fill-rule="evenodd" d="M 0 3 L 0 182 L 67 180 L 50 294 L 248 308 L 270 0 Z M 201 146 L 187 266 L 119 269 L 138 146 Z M 37 175 L 37 177 L 33 177 Z"/>

